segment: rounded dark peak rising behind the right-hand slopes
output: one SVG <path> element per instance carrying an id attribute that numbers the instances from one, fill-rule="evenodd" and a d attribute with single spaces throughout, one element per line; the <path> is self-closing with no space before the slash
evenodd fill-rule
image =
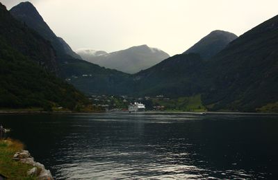
<path id="1" fill-rule="evenodd" d="M 237 36 L 233 33 L 224 30 L 213 30 L 183 54 L 199 53 L 202 58 L 208 60 L 236 38 Z"/>

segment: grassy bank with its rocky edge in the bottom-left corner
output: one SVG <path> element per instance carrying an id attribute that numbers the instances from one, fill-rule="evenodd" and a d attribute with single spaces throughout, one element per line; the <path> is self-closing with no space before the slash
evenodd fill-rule
<path id="1" fill-rule="evenodd" d="M 24 144 L 13 139 L 0 139 L 0 174 L 7 179 L 53 179 L 44 165 L 35 162 Z"/>

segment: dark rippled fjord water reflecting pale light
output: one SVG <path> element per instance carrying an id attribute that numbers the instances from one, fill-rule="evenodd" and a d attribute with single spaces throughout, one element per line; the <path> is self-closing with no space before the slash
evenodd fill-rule
<path id="1" fill-rule="evenodd" d="M 0 115 L 55 179 L 277 179 L 278 115 Z"/>

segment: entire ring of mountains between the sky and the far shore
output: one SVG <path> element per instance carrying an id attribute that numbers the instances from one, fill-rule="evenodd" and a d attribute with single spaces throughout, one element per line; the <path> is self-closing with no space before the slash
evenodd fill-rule
<path id="1" fill-rule="evenodd" d="M 170 57 L 147 45 L 75 52 L 32 3 L 0 11 L 1 109 L 99 111 L 88 97 L 104 95 L 182 111 L 278 112 L 278 16 L 239 37 L 208 32 Z"/>

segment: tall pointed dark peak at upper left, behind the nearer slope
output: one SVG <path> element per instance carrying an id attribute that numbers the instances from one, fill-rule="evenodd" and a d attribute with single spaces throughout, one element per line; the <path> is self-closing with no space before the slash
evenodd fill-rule
<path id="1" fill-rule="evenodd" d="M 44 19 L 42 19 L 32 3 L 28 1 L 19 3 L 17 6 L 10 9 L 10 13 L 13 17 L 15 17 L 15 19 L 22 21 L 26 24 L 26 26 L 39 32 L 44 39 L 49 40 L 52 46 L 54 46 L 58 56 L 68 54 L 72 57 L 81 58 L 79 55 L 74 53 L 74 51 L 72 51 L 70 46 L 68 46 L 63 39 L 55 35 L 51 28 L 49 28 L 49 26 L 44 22 Z"/>

